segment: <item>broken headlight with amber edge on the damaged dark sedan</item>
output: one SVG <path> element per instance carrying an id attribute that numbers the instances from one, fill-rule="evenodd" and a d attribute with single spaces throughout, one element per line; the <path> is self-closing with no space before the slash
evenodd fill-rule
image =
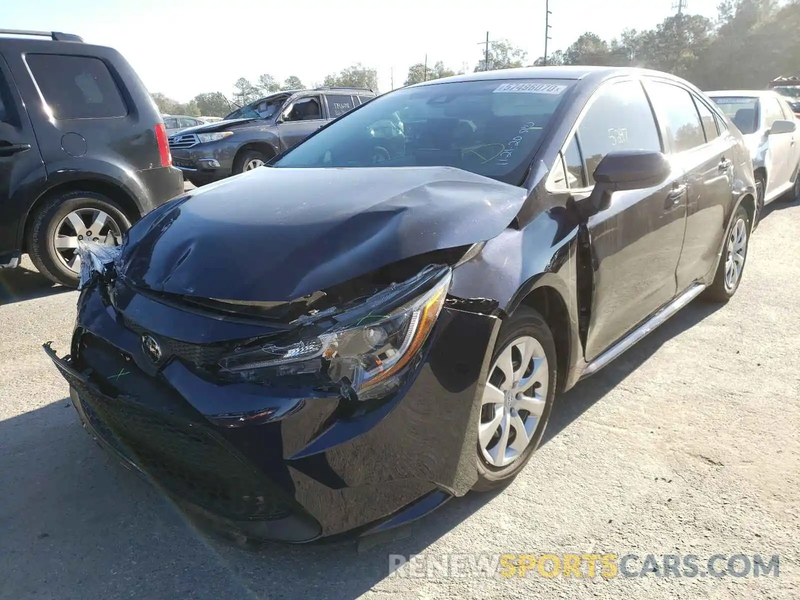
<path id="1" fill-rule="evenodd" d="M 436 270 L 425 273 L 437 274 Z M 447 269 L 426 291 L 392 310 L 382 310 L 403 287 L 419 285 L 418 278 L 392 286 L 349 310 L 351 320 L 310 338 L 277 345 L 238 349 L 223 358 L 223 370 L 244 378 L 272 379 L 282 375 L 326 374 L 353 399 L 387 394 L 402 385 L 403 374 L 418 356 L 434 328 L 450 289 Z M 411 285 L 410 285 L 411 284 Z"/>

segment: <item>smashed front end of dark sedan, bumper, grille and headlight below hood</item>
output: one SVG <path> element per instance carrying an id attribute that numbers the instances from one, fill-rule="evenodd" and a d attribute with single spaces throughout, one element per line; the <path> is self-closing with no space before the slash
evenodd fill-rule
<path id="1" fill-rule="evenodd" d="M 190 505 L 286 541 L 304 541 L 309 523 L 323 536 L 394 526 L 474 483 L 497 307 L 448 293 L 454 267 L 479 250 L 438 250 L 289 302 L 243 302 L 150 290 L 127 280 L 124 249 L 82 244 L 72 351 L 48 351 L 94 434 Z M 122 407 L 145 412 L 146 427 Z M 164 431 L 186 431 L 190 449 L 158 439 Z M 217 472 L 230 456 L 252 485 L 231 466 L 221 468 L 235 482 Z M 265 489 L 281 510 L 258 508 Z M 301 533 L 284 531 L 287 514 L 300 515 Z"/>

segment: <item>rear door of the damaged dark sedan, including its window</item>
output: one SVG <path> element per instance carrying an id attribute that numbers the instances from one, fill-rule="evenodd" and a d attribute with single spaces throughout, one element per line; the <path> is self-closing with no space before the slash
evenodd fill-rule
<path id="1" fill-rule="evenodd" d="M 686 235 L 676 271 L 678 292 L 716 264 L 733 194 L 735 139 L 720 134 L 705 100 L 674 82 L 649 80 L 646 88 L 670 153 L 686 171 Z"/>

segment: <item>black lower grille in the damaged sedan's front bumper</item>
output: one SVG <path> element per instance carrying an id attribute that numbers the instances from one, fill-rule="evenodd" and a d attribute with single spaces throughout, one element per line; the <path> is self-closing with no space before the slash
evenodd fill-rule
<path id="1" fill-rule="evenodd" d="M 234 520 L 289 516 L 274 484 L 202 422 L 72 383 L 96 432 L 171 494 Z"/>

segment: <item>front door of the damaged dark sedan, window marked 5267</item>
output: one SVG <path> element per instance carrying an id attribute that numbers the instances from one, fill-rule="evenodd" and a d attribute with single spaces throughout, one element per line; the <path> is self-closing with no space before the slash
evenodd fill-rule
<path id="1" fill-rule="evenodd" d="M 570 186 L 582 179 L 585 194 L 609 152 L 663 150 L 638 79 L 606 84 L 590 102 L 578 147 L 572 140 L 564 152 Z M 674 298 L 685 219 L 686 185 L 676 165 L 662 185 L 614 193 L 610 207 L 586 223 L 594 270 L 587 362 Z"/>

